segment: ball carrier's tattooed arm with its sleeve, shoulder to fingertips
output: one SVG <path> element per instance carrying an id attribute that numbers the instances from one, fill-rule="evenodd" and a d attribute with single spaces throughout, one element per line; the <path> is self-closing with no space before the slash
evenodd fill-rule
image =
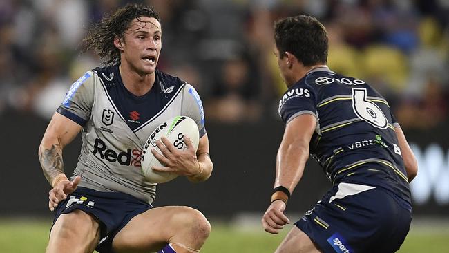
<path id="1" fill-rule="evenodd" d="M 75 191 L 81 178 L 70 182 L 64 173 L 62 150 L 81 131 L 82 125 L 90 118 L 93 104 L 93 72 L 80 77 L 68 91 L 64 101 L 48 124 L 39 145 L 39 162 L 47 181 L 52 186 L 49 192 L 48 208 L 53 211 L 66 194 Z"/>

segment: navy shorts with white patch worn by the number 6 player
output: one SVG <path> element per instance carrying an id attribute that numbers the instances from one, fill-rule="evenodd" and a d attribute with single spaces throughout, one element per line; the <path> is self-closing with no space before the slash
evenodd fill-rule
<path id="1" fill-rule="evenodd" d="M 385 189 L 365 189 L 354 194 L 354 184 L 343 185 L 340 191 L 338 185 L 328 191 L 295 223 L 296 227 L 325 253 L 399 250 L 412 221 L 407 204 Z"/>

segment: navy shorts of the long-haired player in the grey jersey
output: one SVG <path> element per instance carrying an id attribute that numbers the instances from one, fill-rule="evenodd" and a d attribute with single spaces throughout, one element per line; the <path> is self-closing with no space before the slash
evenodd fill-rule
<path id="1" fill-rule="evenodd" d="M 149 203 L 120 192 L 102 192 L 78 187 L 56 209 L 55 224 L 61 214 L 80 209 L 100 221 L 100 241 L 97 252 L 113 252 L 112 241 L 131 218 L 151 209 Z"/>

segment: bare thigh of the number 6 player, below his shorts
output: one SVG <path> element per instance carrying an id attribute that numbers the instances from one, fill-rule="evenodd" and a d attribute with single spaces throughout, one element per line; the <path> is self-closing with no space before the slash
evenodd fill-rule
<path id="1" fill-rule="evenodd" d="M 289 234 L 280 243 L 276 253 L 320 253 L 315 243 L 298 227 L 292 227 Z"/>

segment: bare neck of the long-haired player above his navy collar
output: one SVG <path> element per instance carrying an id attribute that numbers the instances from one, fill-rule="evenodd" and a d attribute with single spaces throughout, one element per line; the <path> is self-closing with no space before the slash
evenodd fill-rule
<path id="1" fill-rule="evenodd" d="M 140 75 L 133 71 L 128 64 L 120 64 L 119 71 L 125 88 L 136 96 L 148 93 L 156 79 L 154 72 L 148 75 Z"/>

